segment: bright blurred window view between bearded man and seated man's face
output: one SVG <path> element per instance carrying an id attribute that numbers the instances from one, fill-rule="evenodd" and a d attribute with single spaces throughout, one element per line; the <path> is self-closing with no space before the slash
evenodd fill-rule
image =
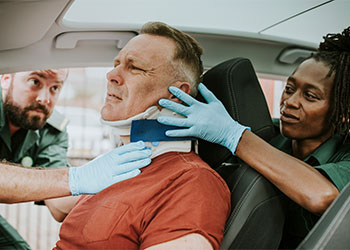
<path id="1" fill-rule="evenodd" d="M 111 68 L 71 68 L 56 109 L 69 123 L 68 158 L 71 165 L 92 159 L 112 148 L 109 129 L 100 122 Z"/>

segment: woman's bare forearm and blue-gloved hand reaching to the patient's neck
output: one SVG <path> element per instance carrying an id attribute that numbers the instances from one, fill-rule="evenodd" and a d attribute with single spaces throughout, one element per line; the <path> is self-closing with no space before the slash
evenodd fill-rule
<path id="1" fill-rule="evenodd" d="M 228 148 L 269 179 L 305 209 L 322 214 L 338 195 L 337 188 L 305 162 L 283 153 L 233 120 L 224 105 L 203 84 L 198 87 L 207 103 L 181 90 L 169 90 L 188 106 L 161 99 L 159 104 L 186 118 L 159 117 L 166 125 L 186 127 L 167 131 L 168 136 L 194 136 Z"/>

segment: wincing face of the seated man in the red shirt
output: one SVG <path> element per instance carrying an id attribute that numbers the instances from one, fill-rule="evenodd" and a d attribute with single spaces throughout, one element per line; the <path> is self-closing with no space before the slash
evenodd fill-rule
<path id="1" fill-rule="evenodd" d="M 165 37 L 142 34 L 130 40 L 107 74 L 102 118 L 125 120 L 157 105 L 160 98 L 169 98 L 174 51 L 174 42 Z"/>

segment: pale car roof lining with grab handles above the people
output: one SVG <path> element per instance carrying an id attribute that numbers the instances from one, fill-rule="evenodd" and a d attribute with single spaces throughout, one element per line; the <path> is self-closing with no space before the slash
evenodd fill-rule
<path id="1" fill-rule="evenodd" d="M 322 36 L 350 24 L 347 0 L 12 0 L 0 2 L 0 73 L 111 66 L 147 21 L 193 35 L 206 68 L 247 57 L 286 76 Z"/>

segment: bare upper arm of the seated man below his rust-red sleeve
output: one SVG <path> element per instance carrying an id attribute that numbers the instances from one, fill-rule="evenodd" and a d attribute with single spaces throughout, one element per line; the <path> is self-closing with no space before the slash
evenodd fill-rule
<path id="1" fill-rule="evenodd" d="M 210 242 L 200 234 L 188 234 L 175 240 L 146 248 L 147 250 L 213 250 Z"/>

